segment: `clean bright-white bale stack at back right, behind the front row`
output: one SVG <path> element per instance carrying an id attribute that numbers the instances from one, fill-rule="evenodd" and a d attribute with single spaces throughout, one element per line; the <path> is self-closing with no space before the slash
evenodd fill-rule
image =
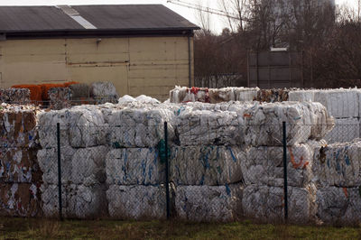
<path id="1" fill-rule="evenodd" d="M 292 90 L 290 101 L 319 102 L 335 117 L 335 128 L 325 137 L 328 143 L 347 143 L 360 136 L 360 96 L 357 88 Z"/>

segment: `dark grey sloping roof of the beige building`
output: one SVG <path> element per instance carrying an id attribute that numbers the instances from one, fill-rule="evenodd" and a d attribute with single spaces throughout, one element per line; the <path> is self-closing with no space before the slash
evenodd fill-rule
<path id="1" fill-rule="evenodd" d="M 163 5 L 74 5 L 97 30 L 199 29 Z M 96 30 L 96 31 L 97 31 Z M 56 6 L 0 6 L 0 32 L 87 31 Z M 94 32 L 95 30 L 92 29 Z"/>

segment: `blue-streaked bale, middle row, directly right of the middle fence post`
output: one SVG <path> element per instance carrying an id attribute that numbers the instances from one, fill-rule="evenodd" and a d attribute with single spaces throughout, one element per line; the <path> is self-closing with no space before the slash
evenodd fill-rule
<path id="1" fill-rule="evenodd" d="M 242 180 L 240 147 L 171 147 L 170 179 L 176 185 L 225 185 Z"/>

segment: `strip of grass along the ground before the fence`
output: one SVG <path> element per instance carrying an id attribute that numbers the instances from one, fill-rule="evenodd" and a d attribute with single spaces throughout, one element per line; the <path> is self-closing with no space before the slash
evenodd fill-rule
<path id="1" fill-rule="evenodd" d="M 0 239 L 361 239 L 361 226 L 0 218 Z"/>

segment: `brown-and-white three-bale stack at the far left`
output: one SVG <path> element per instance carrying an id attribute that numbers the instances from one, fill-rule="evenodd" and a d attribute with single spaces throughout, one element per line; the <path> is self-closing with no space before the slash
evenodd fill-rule
<path id="1" fill-rule="evenodd" d="M 42 216 L 34 106 L 0 106 L 0 215 Z"/>

